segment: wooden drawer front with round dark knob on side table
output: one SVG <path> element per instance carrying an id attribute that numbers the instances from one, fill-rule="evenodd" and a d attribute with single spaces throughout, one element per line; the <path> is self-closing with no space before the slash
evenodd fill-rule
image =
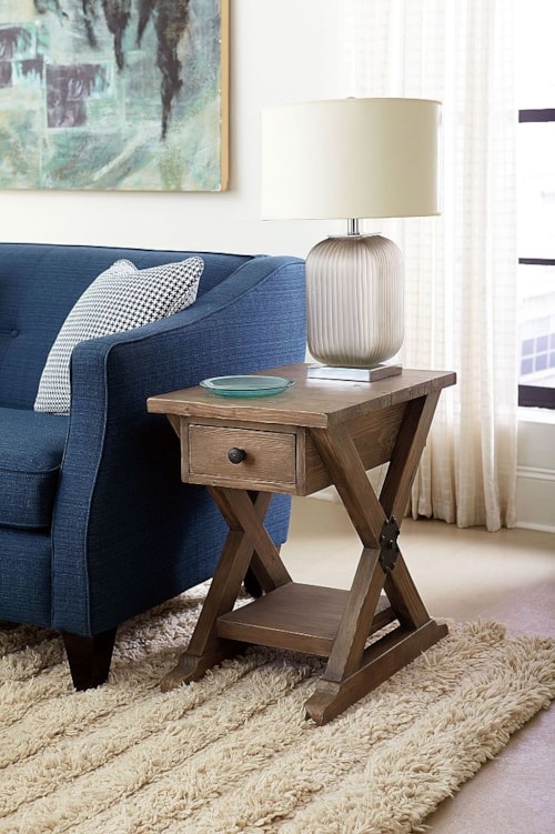
<path id="1" fill-rule="evenodd" d="M 249 483 L 293 485 L 296 482 L 294 433 L 191 423 L 188 440 L 189 474 L 198 483 L 235 481 L 248 486 Z M 244 453 L 239 463 L 229 458 L 232 449 Z"/>

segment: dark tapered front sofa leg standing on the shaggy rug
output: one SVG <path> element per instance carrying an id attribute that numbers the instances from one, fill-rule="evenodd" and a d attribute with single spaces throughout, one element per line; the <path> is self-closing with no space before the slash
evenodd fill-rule
<path id="1" fill-rule="evenodd" d="M 63 645 L 75 690 L 91 690 L 104 683 L 110 672 L 117 629 L 93 637 L 62 632 Z"/>

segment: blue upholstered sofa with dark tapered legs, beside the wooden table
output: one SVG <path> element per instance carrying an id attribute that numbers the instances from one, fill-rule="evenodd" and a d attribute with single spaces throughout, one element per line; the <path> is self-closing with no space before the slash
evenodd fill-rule
<path id="1" fill-rule="evenodd" d="M 79 344 L 68 415 L 33 410 L 49 350 L 115 260 L 200 254 L 196 301 Z M 109 673 L 117 626 L 210 577 L 225 526 L 180 481 L 179 442 L 147 398 L 303 361 L 304 262 L 289 257 L 0 243 L 0 621 L 58 630 L 77 689 Z M 268 529 L 287 534 L 290 500 Z"/>

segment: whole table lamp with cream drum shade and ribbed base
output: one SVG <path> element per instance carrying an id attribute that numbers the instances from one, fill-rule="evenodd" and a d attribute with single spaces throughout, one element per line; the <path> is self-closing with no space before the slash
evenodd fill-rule
<path id="1" fill-rule="evenodd" d="M 347 220 L 306 257 L 313 375 L 381 379 L 404 333 L 403 259 L 362 218 L 438 213 L 440 102 L 339 99 L 262 110 L 262 218 Z"/>

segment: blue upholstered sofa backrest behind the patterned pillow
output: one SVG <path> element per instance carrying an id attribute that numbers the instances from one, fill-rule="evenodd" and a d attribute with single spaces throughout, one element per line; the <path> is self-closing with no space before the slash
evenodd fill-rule
<path id="1" fill-rule="evenodd" d="M 114 261 L 138 269 L 199 254 L 199 297 L 228 279 L 251 255 L 114 247 L 0 243 L 0 405 L 32 409 L 42 370 L 75 301 Z"/>

